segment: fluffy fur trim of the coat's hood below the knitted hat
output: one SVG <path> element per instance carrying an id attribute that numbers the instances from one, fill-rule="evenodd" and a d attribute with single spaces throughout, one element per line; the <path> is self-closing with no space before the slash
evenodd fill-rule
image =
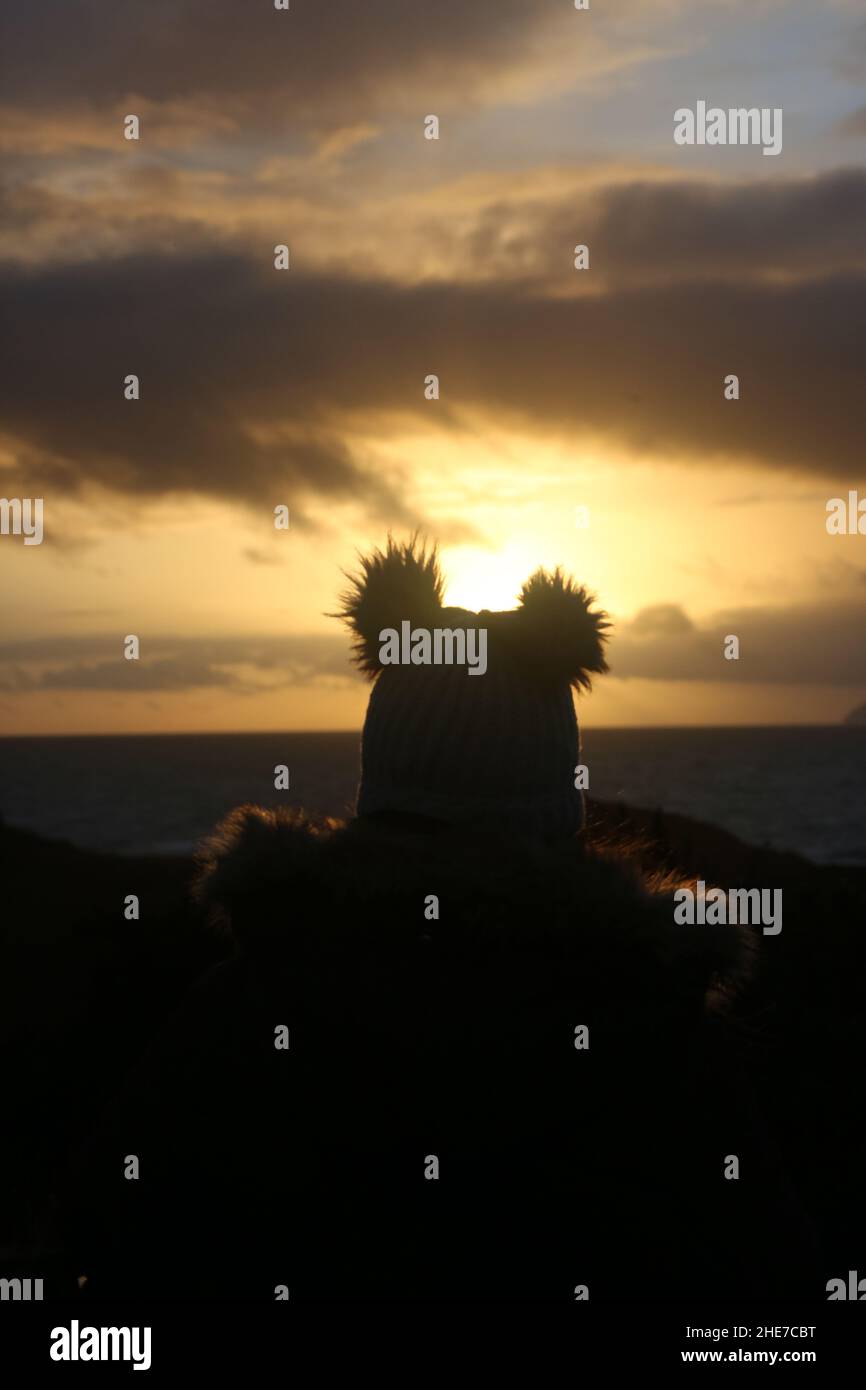
<path id="1" fill-rule="evenodd" d="M 446 828 L 420 834 L 370 820 L 239 806 L 200 847 L 196 897 L 253 956 L 403 960 L 418 940 L 448 942 L 455 969 L 569 994 L 601 974 L 613 1006 L 634 992 L 716 1004 L 751 973 L 755 941 L 735 926 L 674 922 L 673 878 L 645 878 L 623 855 L 578 841 Z M 442 923 L 424 919 L 428 892 Z M 492 973 L 491 973 L 492 972 Z M 621 995 L 621 998 L 620 998 Z M 623 1005 L 627 1008 L 627 1005 Z"/>

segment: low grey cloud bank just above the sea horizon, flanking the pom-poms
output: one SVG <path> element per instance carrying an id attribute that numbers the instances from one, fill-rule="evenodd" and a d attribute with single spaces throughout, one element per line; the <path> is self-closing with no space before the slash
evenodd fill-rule
<path id="1" fill-rule="evenodd" d="M 731 634 L 740 638 L 735 662 L 724 657 Z M 211 687 L 260 694 L 360 678 L 336 623 L 334 632 L 316 635 L 139 637 L 139 662 L 122 657 L 118 635 L 1 644 L 0 692 Z M 609 656 L 613 676 L 626 680 L 866 685 L 866 603 L 731 609 L 701 623 L 677 605 L 656 605 L 614 623 Z"/>

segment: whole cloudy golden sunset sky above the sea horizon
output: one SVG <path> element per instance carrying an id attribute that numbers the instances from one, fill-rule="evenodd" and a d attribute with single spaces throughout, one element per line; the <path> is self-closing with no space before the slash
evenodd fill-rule
<path id="1" fill-rule="evenodd" d="M 866 699 L 862 0 L 40 0 L 0 51 L 4 733 L 359 727 L 324 614 L 416 527 L 452 603 L 598 594 L 596 726 Z M 674 145 L 698 100 L 783 153 Z"/>

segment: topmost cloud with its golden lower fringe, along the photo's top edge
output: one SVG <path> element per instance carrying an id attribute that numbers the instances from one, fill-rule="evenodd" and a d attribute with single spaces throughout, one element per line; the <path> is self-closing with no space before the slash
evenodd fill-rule
<path id="1" fill-rule="evenodd" d="M 781 8 L 790 0 L 763 0 Z M 39 0 L 3 19 L 1 128 L 14 149 L 107 149 L 124 114 L 158 146 L 313 136 L 606 92 L 705 42 L 705 17 L 756 0 Z M 22 120 L 26 113 L 26 121 Z"/>

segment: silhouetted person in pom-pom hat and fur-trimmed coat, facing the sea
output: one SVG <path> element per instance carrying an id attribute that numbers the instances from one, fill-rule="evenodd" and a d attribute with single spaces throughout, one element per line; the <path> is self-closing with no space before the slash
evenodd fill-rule
<path id="1" fill-rule="evenodd" d="M 571 692 L 606 669 L 603 614 L 559 571 L 509 613 L 441 599 L 414 542 L 343 598 L 373 678 L 356 819 L 246 806 L 203 847 L 235 951 L 79 1163 L 88 1287 L 796 1291 L 796 1211 L 726 1019 L 752 941 L 677 926 L 671 884 L 584 842 Z"/>

